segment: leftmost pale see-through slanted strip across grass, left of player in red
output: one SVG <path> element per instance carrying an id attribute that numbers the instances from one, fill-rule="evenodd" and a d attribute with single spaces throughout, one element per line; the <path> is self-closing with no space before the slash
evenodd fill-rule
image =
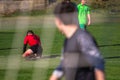
<path id="1" fill-rule="evenodd" d="M 27 30 L 27 26 L 29 25 L 29 17 L 26 17 L 26 20 L 23 20 L 22 17 L 19 17 L 16 21 L 16 34 L 13 39 L 12 47 L 15 47 L 16 45 L 19 44 L 19 39 L 22 38 L 22 36 L 25 33 L 20 34 L 19 30 L 22 29 L 25 32 Z M 22 42 L 22 41 L 21 41 Z M 21 46 L 23 45 L 20 44 Z M 5 73 L 5 78 L 4 80 L 17 80 L 18 76 L 18 71 L 20 69 L 20 61 L 21 61 L 21 56 L 19 55 L 14 55 L 12 53 L 15 53 L 15 50 L 11 50 L 10 55 L 8 56 L 8 61 L 7 61 L 7 67 L 6 67 L 6 73 Z M 18 54 L 18 53 L 16 53 Z"/>

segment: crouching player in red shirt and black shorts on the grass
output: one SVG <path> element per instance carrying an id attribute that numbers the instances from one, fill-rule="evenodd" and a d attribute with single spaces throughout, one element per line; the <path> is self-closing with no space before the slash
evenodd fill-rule
<path id="1" fill-rule="evenodd" d="M 29 44 L 30 48 L 26 50 L 27 44 Z M 24 46 L 23 46 L 23 55 L 24 58 L 40 58 L 42 56 L 42 46 L 39 36 L 34 34 L 32 30 L 28 30 L 27 34 L 24 38 Z"/>

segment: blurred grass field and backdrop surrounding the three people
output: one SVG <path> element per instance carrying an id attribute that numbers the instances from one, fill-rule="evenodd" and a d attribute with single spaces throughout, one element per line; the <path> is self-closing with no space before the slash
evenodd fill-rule
<path id="1" fill-rule="evenodd" d="M 0 0 L 0 79 L 48 80 L 60 61 L 64 36 L 54 24 L 54 6 L 62 0 Z M 76 4 L 80 0 L 71 0 Z M 119 80 L 120 1 L 88 0 L 95 37 L 106 61 L 106 80 Z M 43 58 L 21 57 L 27 30 L 40 36 Z M 64 80 L 64 79 L 63 79 Z"/>

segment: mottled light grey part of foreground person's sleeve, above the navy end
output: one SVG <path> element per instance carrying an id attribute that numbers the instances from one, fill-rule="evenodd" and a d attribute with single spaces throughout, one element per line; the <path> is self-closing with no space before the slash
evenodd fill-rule
<path id="1" fill-rule="evenodd" d="M 77 38 L 78 48 L 83 54 L 100 57 L 100 51 L 95 39 L 87 33 L 83 33 Z"/>

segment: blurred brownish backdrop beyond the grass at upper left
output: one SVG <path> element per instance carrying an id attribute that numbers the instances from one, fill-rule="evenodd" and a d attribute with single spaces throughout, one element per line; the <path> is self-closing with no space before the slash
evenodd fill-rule
<path id="1" fill-rule="evenodd" d="M 0 16 L 44 14 L 56 1 L 60 0 L 0 0 Z"/>

